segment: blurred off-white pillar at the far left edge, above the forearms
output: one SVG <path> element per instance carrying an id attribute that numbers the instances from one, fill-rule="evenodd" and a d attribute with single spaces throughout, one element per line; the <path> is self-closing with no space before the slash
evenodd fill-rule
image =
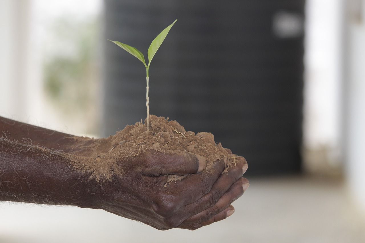
<path id="1" fill-rule="evenodd" d="M 29 1 L 0 1 L 0 112 L 25 114 L 25 77 L 29 39 Z"/>

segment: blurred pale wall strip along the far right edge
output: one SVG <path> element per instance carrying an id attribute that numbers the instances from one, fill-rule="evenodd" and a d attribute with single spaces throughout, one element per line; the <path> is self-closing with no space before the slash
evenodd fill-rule
<path id="1" fill-rule="evenodd" d="M 365 1 L 353 3 L 358 5 L 348 10 L 346 18 L 344 148 L 351 193 L 365 213 Z"/>

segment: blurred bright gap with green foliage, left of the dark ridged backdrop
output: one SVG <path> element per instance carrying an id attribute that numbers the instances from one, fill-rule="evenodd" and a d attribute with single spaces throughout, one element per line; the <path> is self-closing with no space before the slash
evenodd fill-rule
<path id="1" fill-rule="evenodd" d="M 47 27 L 46 36 L 43 80 L 47 99 L 65 119 L 86 121 L 85 131 L 97 131 L 99 18 L 57 18 Z"/>

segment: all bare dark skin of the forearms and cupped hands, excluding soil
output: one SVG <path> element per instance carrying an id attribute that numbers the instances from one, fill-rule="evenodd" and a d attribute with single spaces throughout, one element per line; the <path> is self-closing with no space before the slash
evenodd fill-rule
<path id="1" fill-rule="evenodd" d="M 0 201 L 104 209 L 161 230 L 194 230 L 230 216 L 231 203 L 249 185 L 242 178 L 244 159 L 222 174 L 224 159 L 205 170 L 205 159 L 178 151 L 146 151 L 116 161 L 123 176 L 96 181 L 71 165 L 68 154 L 84 145 L 73 135 L 3 117 L 0 134 Z M 165 186 L 166 174 L 187 177 Z"/>

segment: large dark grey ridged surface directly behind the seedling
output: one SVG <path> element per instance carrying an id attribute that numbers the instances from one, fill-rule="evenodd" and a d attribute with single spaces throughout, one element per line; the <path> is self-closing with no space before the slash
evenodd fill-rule
<path id="1" fill-rule="evenodd" d="M 104 36 L 147 53 L 175 19 L 150 67 L 150 113 L 212 132 L 247 174 L 299 172 L 304 0 L 107 0 Z M 104 47 L 110 135 L 145 119 L 145 68 Z"/>

